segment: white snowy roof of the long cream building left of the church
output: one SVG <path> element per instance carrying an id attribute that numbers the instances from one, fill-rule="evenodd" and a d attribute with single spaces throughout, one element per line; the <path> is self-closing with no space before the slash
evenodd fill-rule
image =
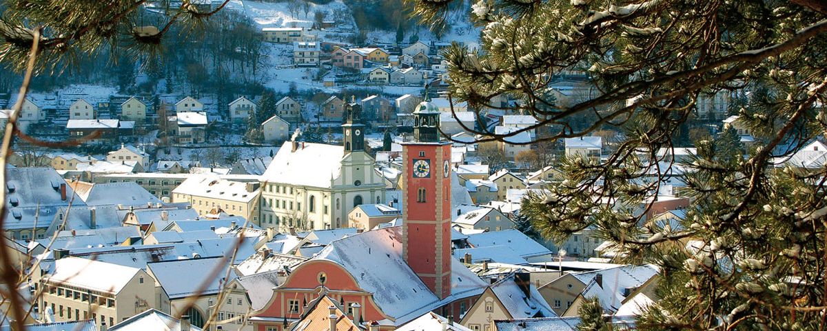
<path id="1" fill-rule="evenodd" d="M 247 189 L 247 183 L 222 180 L 217 175 L 194 175 L 172 190 L 173 194 L 188 194 L 210 199 L 249 203 L 256 199 L 259 189 Z"/>

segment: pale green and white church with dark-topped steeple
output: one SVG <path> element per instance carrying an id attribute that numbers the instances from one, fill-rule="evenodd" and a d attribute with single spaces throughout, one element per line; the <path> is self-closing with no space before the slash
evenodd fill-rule
<path id="1" fill-rule="evenodd" d="M 261 175 L 261 227 L 288 232 L 347 227 L 360 204 L 385 202 L 385 180 L 365 151 L 361 106 L 347 105 L 342 145 L 284 142 Z"/>

